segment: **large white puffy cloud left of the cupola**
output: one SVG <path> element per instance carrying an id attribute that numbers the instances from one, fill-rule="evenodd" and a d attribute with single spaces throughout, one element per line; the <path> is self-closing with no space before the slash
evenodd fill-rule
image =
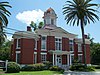
<path id="1" fill-rule="evenodd" d="M 35 23 L 43 21 L 43 14 L 44 12 L 40 9 L 32 11 L 23 11 L 22 13 L 19 12 L 16 15 L 16 18 L 22 23 L 26 23 L 27 25 L 29 25 L 31 21 L 34 21 Z"/>

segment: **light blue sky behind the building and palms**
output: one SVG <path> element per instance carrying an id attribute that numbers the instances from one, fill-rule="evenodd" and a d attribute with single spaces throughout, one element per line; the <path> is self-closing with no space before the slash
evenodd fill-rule
<path id="1" fill-rule="evenodd" d="M 77 26 L 70 26 L 66 25 L 66 21 L 64 20 L 64 15 L 62 14 L 62 8 L 65 4 L 66 0 L 1 0 L 1 1 L 8 1 L 10 5 L 12 6 L 11 9 L 8 8 L 8 10 L 12 13 L 9 19 L 8 28 L 14 28 L 17 30 L 25 31 L 27 24 L 19 20 L 22 18 L 16 18 L 16 16 L 20 13 L 26 11 L 38 11 L 39 9 L 41 11 L 46 11 L 49 7 L 53 8 L 58 16 L 57 19 L 57 26 L 64 28 L 66 31 L 70 33 L 74 33 L 79 35 L 78 37 L 81 37 L 81 29 Z M 99 0 L 93 0 L 95 3 L 99 3 Z M 99 8 L 100 9 L 100 8 Z M 100 16 L 100 14 L 98 14 Z M 36 16 L 36 15 L 33 15 Z M 27 18 L 27 17 L 26 17 Z M 29 17 L 28 17 L 29 18 Z M 97 21 L 96 23 L 88 24 L 85 26 L 85 34 L 90 33 L 91 37 L 94 38 L 95 42 L 100 42 L 100 21 Z M 14 33 L 15 31 L 8 30 L 9 33 Z M 8 38 L 10 38 L 12 35 L 8 35 Z"/>

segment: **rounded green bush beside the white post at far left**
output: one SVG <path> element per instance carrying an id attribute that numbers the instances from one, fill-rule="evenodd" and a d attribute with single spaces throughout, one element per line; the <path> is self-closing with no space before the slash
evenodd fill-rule
<path id="1" fill-rule="evenodd" d="M 7 64 L 7 73 L 19 73 L 20 65 L 15 62 L 8 62 Z"/>

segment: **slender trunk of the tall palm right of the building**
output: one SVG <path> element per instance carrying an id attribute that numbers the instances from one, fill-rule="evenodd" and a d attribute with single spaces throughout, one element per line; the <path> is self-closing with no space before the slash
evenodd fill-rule
<path id="1" fill-rule="evenodd" d="M 87 66 L 86 64 L 86 47 L 85 47 L 85 37 L 84 37 L 84 23 L 83 19 L 81 20 L 81 31 L 82 31 L 82 42 L 83 42 L 83 53 L 84 53 L 84 65 L 85 67 Z"/>

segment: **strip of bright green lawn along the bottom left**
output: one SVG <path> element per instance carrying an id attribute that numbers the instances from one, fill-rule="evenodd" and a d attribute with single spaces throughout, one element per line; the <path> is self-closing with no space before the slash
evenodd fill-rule
<path id="1" fill-rule="evenodd" d="M 0 75 L 59 75 L 61 74 L 60 72 L 57 71 L 30 71 L 30 72 L 20 72 L 20 73 L 5 73 L 5 74 L 0 74 Z"/>

